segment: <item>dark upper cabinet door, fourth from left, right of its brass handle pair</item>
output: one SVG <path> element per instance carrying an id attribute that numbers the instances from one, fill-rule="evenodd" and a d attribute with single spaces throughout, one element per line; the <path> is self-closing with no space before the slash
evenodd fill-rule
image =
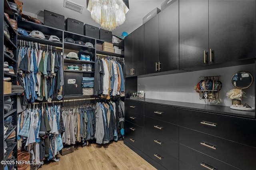
<path id="1" fill-rule="evenodd" d="M 179 2 L 170 3 L 159 13 L 160 71 L 177 70 L 179 66 Z"/>

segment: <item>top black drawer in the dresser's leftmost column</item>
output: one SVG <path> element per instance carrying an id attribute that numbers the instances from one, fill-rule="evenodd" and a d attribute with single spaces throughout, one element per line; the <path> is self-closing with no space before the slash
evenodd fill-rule
<path id="1" fill-rule="evenodd" d="M 124 102 L 125 112 L 134 112 L 144 115 L 144 103 L 128 101 Z"/>

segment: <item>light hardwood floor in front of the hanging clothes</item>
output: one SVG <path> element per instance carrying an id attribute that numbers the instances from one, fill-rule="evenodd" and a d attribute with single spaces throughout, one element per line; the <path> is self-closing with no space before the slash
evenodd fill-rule
<path id="1" fill-rule="evenodd" d="M 45 161 L 39 170 L 156 170 L 124 145 L 124 141 L 90 144 L 59 157 L 59 162 Z"/>

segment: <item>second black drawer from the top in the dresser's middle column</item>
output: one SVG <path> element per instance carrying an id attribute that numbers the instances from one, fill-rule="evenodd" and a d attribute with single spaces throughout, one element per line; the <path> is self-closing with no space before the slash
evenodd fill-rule
<path id="1" fill-rule="evenodd" d="M 179 141 L 179 127 L 177 125 L 144 116 L 144 126 L 145 129 L 154 133 L 172 139 L 176 142 Z"/>

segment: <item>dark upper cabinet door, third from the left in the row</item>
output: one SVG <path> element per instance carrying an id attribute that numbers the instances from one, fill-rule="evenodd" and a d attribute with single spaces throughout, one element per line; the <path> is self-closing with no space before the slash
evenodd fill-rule
<path id="1" fill-rule="evenodd" d="M 158 72 L 158 14 L 144 24 L 144 73 Z"/>

